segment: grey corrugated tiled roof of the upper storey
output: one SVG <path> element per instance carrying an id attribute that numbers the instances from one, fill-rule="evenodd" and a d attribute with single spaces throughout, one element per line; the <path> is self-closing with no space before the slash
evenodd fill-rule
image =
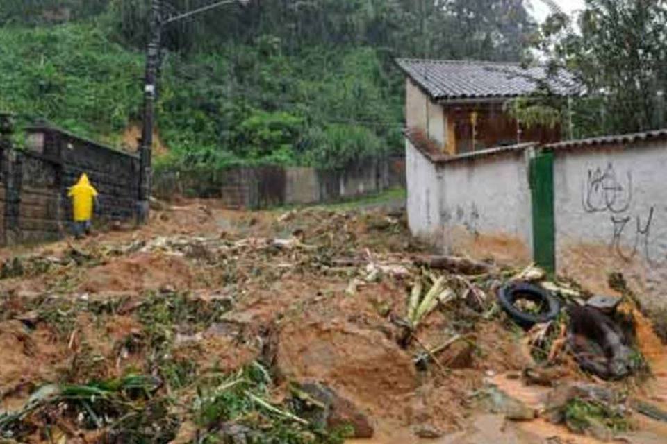
<path id="1" fill-rule="evenodd" d="M 471 62 L 465 60 L 397 59 L 398 66 L 436 100 L 494 99 L 527 96 L 542 81 L 553 94 L 576 96 L 582 93 L 577 81 L 566 71 L 547 79 L 545 67 L 523 68 L 518 63 Z"/>

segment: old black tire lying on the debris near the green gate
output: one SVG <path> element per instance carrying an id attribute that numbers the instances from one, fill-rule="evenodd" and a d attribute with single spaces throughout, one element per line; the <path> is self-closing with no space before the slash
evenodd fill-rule
<path id="1" fill-rule="evenodd" d="M 532 300 L 545 308 L 537 314 L 521 311 L 515 305 L 520 299 Z M 502 287 L 498 291 L 498 303 L 513 321 L 525 328 L 552 321 L 561 311 L 561 303 L 557 298 L 541 287 L 524 282 Z"/>

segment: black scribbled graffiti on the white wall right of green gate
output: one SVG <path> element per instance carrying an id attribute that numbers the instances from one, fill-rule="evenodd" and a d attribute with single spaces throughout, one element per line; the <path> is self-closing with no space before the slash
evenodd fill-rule
<path id="1" fill-rule="evenodd" d="M 652 205 L 648 213 L 634 213 L 630 211 L 632 200 L 632 171 L 627 171 L 625 176 L 618 175 L 611 162 L 606 169 L 588 169 L 582 206 L 589 214 L 609 214 L 613 228 L 611 250 L 627 261 L 642 255 L 654 264 L 651 229 L 655 219 L 655 206 Z M 604 226 L 600 228 L 603 229 Z"/>

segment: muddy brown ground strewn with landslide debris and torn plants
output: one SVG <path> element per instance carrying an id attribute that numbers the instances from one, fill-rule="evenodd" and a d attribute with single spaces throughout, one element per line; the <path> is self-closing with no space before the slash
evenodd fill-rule
<path id="1" fill-rule="evenodd" d="M 454 298 L 406 323 L 415 282 L 442 274 L 415 266 L 430 253 L 395 207 L 212 202 L 165 205 L 141 230 L 3 250 L 0 443 L 667 442 L 667 422 L 632 409 L 604 418 L 611 434 L 544 413 L 568 382 L 667 407 L 667 355 L 639 309 L 646 366 L 603 382 L 566 348 L 537 359 L 495 303 L 520 271 L 502 264 L 445 273 Z"/>

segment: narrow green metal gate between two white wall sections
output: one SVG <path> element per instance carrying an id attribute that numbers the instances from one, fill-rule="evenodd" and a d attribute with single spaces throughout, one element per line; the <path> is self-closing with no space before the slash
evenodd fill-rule
<path id="1" fill-rule="evenodd" d="M 556 271 L 554 223 L 554 153 L 537 153 L 530 161 L 533 257 L 546 271 Z"/>

